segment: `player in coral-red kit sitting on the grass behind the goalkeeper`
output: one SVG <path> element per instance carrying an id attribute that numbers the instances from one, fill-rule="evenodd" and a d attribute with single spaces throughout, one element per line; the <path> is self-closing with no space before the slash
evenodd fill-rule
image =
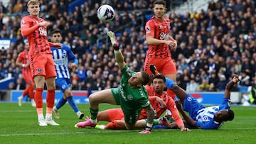
<path id="1" fill-rule="evenodd" d="M 181 131 L 189 131 L 188 128 L 184 126 L 183 120 L 178 113 L 178 109 L 176 109 L 176 105 L 174 99 L 169 96 L 166 92 L 164 92 L 164 87 L 166 87 L 166 78 L 164 75 L 157 74 L 153 77 L 153 85 L 146 85 L 146 90 L 149 94 L 149 101 L 151 106 L 155 111 L 154 123 L 153 125 L 161 125 L 169 126 L 170 128 L 180 128 Z M 166 120 L 159 118 L 166 109 L 169 109 L 173 114 L 174 121 L 176 123 L 169 123 Z M 136 128 L 144 128 L 146 126 L 146 118 L 147 112 L 142 110 L 139 121 L 136 123 Z M 159 119 L 157 119 L 159 118 Z M 127 129 L 125 127 L 125 123 L 123 121 L 124 114 L 122 113 L 122 109 L 109 109 L 106 111 L 100 111 L 97 115 L 98 121 L 110 121 L 104 129 Z M 85 128 L 87 125 L 78 126 L 80 128 Z M 175 126 L 175 127 L 174 127 Z"/>

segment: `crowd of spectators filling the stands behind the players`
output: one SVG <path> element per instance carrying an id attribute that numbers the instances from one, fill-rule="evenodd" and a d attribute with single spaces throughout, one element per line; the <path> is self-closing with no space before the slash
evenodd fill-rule
<path id="1" fill-rule="evenodd" d="M 63 43 L 78 57 L 72 73 L 74 90 L 117 87 L 120 74 L 106 32 L 117 33 L 125 61 L 132 70 L 143 70 L 148 45 L 144 24 L 153 0 L 88 0 L 69 11 L 70 1 L 42 1 L 41 17 L 63 32 Z M 116 10 L 110 23 L 97 18 L 97 8 L 110 4 Z M 210 1 L 208 10 L 185 14 L 170 11 L 171 36 L 178 48 L 171 55 L 177 67 L 177 84 L 188 92 L 222 92 L 232 74 L 240 75 L 240 86 L 254 86 L 256 72 L 255 0 Z M 168 6 L 168 5 L 167 5 Z M 16 38 L 10 48 L 0 50 L 0 79 L 18 79 L 21 68 L 15 61 L 23 50 L 20 26 L 26 1 L 0 2 L 0 38 Z M 49 37 L 50 40 L 50 37 Z"/>

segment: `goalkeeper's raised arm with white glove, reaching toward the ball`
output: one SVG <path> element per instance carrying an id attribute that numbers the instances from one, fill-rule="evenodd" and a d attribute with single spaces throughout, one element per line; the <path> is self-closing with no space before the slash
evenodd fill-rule
<path id="1" fill-rule="evenodd" d="M 124 62 L 124 56 L 122 55 L 122 52 L 119 50 L 119 45 L 117 43 L 117 40 L 115 39 L 115 35 L 112 31 L 107 32 L 107 35 L 110 37 L 112 46 L 114 47 L 114 58 L 117 61 L 117 64 L 119 65 L 119 69 L 123 70 L 126 64 Z"/>

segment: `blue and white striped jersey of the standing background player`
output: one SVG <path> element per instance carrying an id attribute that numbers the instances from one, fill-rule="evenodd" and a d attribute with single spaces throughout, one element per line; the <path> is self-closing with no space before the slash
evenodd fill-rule
<path id="1" fill-rule="evenodd" d="M 77 58 L 68 47 L 68 45 L 63 45 L 62 48 L 53 48 L 50 50 L 53 52 L 54 66 L 57 73 L 56 79 L 68 78 L 70 79 L 70 72 L 68 69 L 68 62 L 78 62 Z"/>

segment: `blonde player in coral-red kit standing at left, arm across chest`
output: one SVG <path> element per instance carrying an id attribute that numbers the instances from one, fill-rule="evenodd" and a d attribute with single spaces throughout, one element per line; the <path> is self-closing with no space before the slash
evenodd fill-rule
<path id="1" fill-rule="evenodd" d="M 60 43 L 50 43 L 47 38 L 47 27 L 50 22 L 39 18 L 40 2 L 28 1 L 28 16 L 21 20 L 21 35 L 28 38 L 29 62 L 33 79 L 36 83 L 35 101 L 39 126 L 59 126 L 52 118 L 55 99 L 55 67 L 50 46 L 60 48 Z M 43 116 L 43 88 L 46 82 L 46 119 Z"/>

